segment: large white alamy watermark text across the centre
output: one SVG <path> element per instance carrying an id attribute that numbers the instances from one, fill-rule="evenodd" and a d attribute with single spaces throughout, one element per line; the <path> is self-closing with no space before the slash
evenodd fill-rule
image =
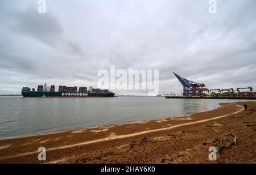
<path id="1" fill-rule="evenodd" d="M 148 95 L 159 93 L 158 69 L 115 70 L 115 65 L 110 65 L 110 71 L 101 69 L 97 76 L 101 77 L 97 86 L 102 89 L 146 90 Z"/>

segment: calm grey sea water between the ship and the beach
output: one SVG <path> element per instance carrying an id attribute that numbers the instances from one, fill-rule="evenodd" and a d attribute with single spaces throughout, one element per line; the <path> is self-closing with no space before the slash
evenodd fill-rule
<path id="1" fill-rule="evenodd" d="M 232 101 L 236 100 L 0 97 L 0 139 L 183 116 Z"/>

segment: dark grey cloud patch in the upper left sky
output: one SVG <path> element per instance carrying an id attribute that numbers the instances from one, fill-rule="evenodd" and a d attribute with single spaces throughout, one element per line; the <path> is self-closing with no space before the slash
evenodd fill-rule
<path id="1" fill-rule="evenodd" d="M 59 50 L 83 55 L 79 45 L 65 39 L 63 27 L 51 12 L 39 14 L 37 8 L 29 6 L 25 10 L 15 11 L 10 19 L 14 22 L 10 26 L 11 32 L 35 38 Z"/>

